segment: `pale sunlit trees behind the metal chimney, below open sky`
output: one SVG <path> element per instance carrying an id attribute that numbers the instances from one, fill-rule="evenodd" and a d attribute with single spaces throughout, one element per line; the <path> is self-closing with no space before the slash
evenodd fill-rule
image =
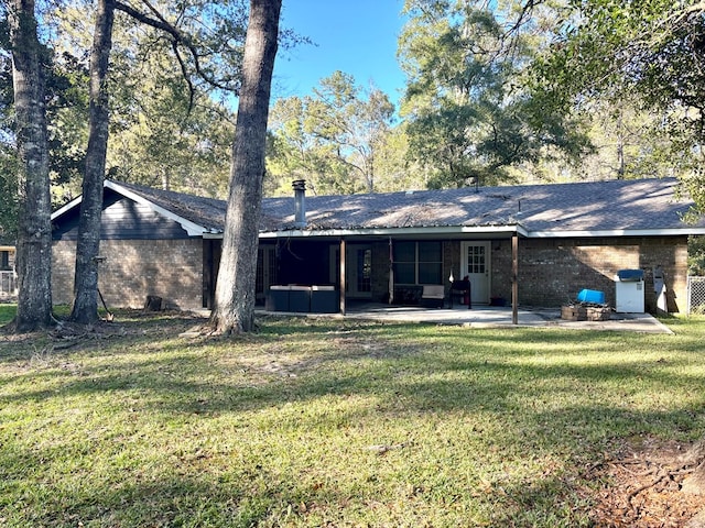
<path id="1" fill-rule="evenodd" d="M 392 128 L 394 107 L 376 87 L 335 72 L 311 96 L 278 100 L 270 130 L 271 187 L 306 179 L 318 194 L 372 193 L 380 179 L 378 158 Z"/>

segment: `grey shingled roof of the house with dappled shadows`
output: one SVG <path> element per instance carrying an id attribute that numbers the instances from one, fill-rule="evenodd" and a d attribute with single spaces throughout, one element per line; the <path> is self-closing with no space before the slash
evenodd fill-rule
<path id="1" fill-rule="evenodd" d="M 676 230 L 704 234 L 705 221 L 686 224 L 693 206 L 676 198 L 675 178 L 586 182 L 554 185 L 466 187 L 459 189 L 306 196 L 306 227 L 294 226 L 294 197 L 262 201 L 260 231 L 364 232 L 400 228 L 512 228 L 528 237 L 648 234 Z M 106 182 L 159 209 L 221 233 L 226 202 L 141 185 Z M 674 231 L 675 233 L 675 231 Z M 293 233 L 290 233 L 293 234 Z"/>

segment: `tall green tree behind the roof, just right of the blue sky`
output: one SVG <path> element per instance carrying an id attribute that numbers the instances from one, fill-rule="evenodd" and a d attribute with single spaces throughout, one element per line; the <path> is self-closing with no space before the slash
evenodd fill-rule
<path id="1" fill-rule="evenodd" d="M 507 180 L 508 167 L 539 161 L 547 146 L 586 152 L 578 122 L 525 86 L 553 14 L 530 3 L 405 2 L 402 116 L 412 157 L 433 172 L 431 185 Z"/>

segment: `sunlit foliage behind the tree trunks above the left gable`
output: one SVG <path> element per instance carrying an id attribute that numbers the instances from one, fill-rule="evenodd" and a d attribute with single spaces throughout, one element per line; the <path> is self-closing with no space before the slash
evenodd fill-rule
<path id="1" fill-rule="evenodd" d="M 224 197 L 235 124 L 227 98 L 239 89 L 247 3 L 189 0 L 116 6 L 123 11 L 117 14 L 110 65 L 108 176 Z M 43 35 L 51 58 L 47 121 L 56 207 L 80 189 L 95 6 L 66 0 L 42 7 L 42 20 L 51 28 Z M 0 81 L 1 91 L 11 97 L 11 77 Z M 9 118 L 2 121 L 2 138 L 12 157 L 11 101 L 2 108 Z"/>

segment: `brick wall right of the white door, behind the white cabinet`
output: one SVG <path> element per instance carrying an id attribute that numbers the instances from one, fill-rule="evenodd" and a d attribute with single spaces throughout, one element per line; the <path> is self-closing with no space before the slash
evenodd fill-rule
<path id="1" fill-rule="evenodd" d="M 492 243 L 491 295 L 511 299 L 511 242 Z M 646 308 L 655 311 L 653 274 L 665 274 L 669 311 L 684 311 L 687 282 L 687 239 L 623 238 L 519 241 L 519 302 L 560 306 L 583 289 L 605 292 L 615 306 L 618 270 L 643 270 Z"/>

